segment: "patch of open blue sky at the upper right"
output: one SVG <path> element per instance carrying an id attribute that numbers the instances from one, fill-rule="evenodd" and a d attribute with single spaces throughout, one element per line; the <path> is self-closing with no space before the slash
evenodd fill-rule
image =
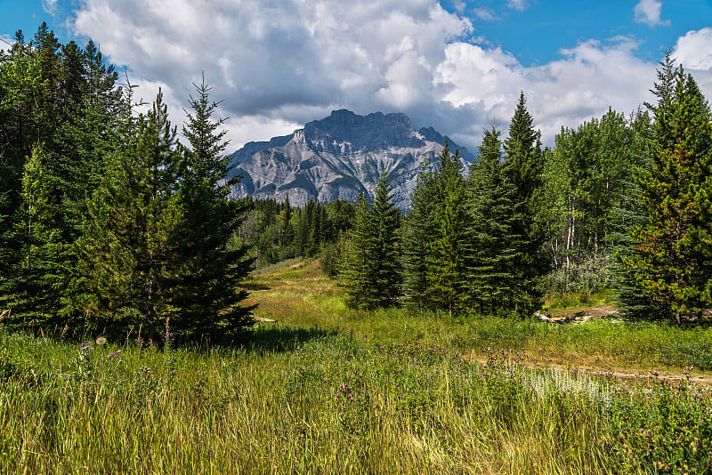
<path id="1" fill-rule="evenodd" d="M 500 45 L 525 65 L 543 64 L 559 56 L 562 48 L 573 48 L 589 39 L 605 40 L 631 36 L 641 42 L 636 54 L 646 60 L 659 60 L 660 52 L 674 45 L 676 38 L 690 30 L 712 27 L 711 0 L 649 2 L 659 4 L 655 18 L 635 18 L 638 2 L 617 0 L 566 1 L 528 0 L 526 2 L 444 3 L 449 11 L 462 11 L 475 22 L 474 36 L 484 36 Z M 512 8 L 520 4 L 521 9 Z M 644 4 L 643 4 L 644 6 Z M 494 18 L 489 20 L 489 12 Z M 644 12 L 644 11 L 643 11 Z M 653 15 L 654 16 L 654 15 Z"/>

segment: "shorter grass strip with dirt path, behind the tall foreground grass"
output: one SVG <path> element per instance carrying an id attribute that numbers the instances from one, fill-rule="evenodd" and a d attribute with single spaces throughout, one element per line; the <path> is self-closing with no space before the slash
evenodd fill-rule
<path id="1" fill-rule="evenodd" d="M 303 328 L 353 334 L 366 342 L 440 345 L 482 359 L 488 347 L 527 351 L 541 363 L 606 366 L 627 372 L 681 373 L 695 366 L 712 375 L 712 326 L 680 329 L 651 322 L 600 318 L 582 325 L 552 325 L 536 318 L 467 315 L 404 308 L 362 311 L 346 307 L 334 280 L 317 262 L 255 275 L 250 298 L 256 314 Z M 605 294 L 599 300 L 605 302 Z M 557 310 L 562 310 L 561 308 Z"/>

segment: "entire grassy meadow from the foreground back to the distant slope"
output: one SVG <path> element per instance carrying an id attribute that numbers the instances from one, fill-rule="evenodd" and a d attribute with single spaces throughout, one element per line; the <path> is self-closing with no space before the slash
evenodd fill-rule
<path id="1" fill-rule="evenodd" d="M 316 262 L 247 287 L 277 321 L 232 347 L 0 330 L 0 473 L 712 473 L 709 328 L 355 312 Z"/>

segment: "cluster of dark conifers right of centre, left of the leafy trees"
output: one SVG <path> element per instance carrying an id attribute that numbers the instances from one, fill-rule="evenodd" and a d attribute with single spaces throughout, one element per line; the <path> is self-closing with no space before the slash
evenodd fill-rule
<path id="1" fill-rule="evenodd" d="M 525 103 L 522 93 L 506 141 L 494 127 L 485 131 L 467 178 L 447 143 L 435 170 L 421 166 L 402 229 L 385 174 L 374 203 L 360 199 L 344 245 L 342 278 L 352 306 L 389 305 L 402 295 L 410 305 L 450 314 L 540 307 L 546 265 L 536 206 L 544 157 Z"/>

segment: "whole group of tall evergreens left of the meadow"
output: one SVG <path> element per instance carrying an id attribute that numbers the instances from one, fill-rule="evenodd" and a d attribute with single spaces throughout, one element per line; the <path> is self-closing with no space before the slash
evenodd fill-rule
<path id="1" fill-rule="evenodd" d="M 0 52 L 0 306 L 4 325 L 154 340 L 231 338 L 251 323 L 231 239 L 247 209 L 205 81 L 177 141 L 158 93 L 135 112 L 93 42 L 43 24 Z"/>

